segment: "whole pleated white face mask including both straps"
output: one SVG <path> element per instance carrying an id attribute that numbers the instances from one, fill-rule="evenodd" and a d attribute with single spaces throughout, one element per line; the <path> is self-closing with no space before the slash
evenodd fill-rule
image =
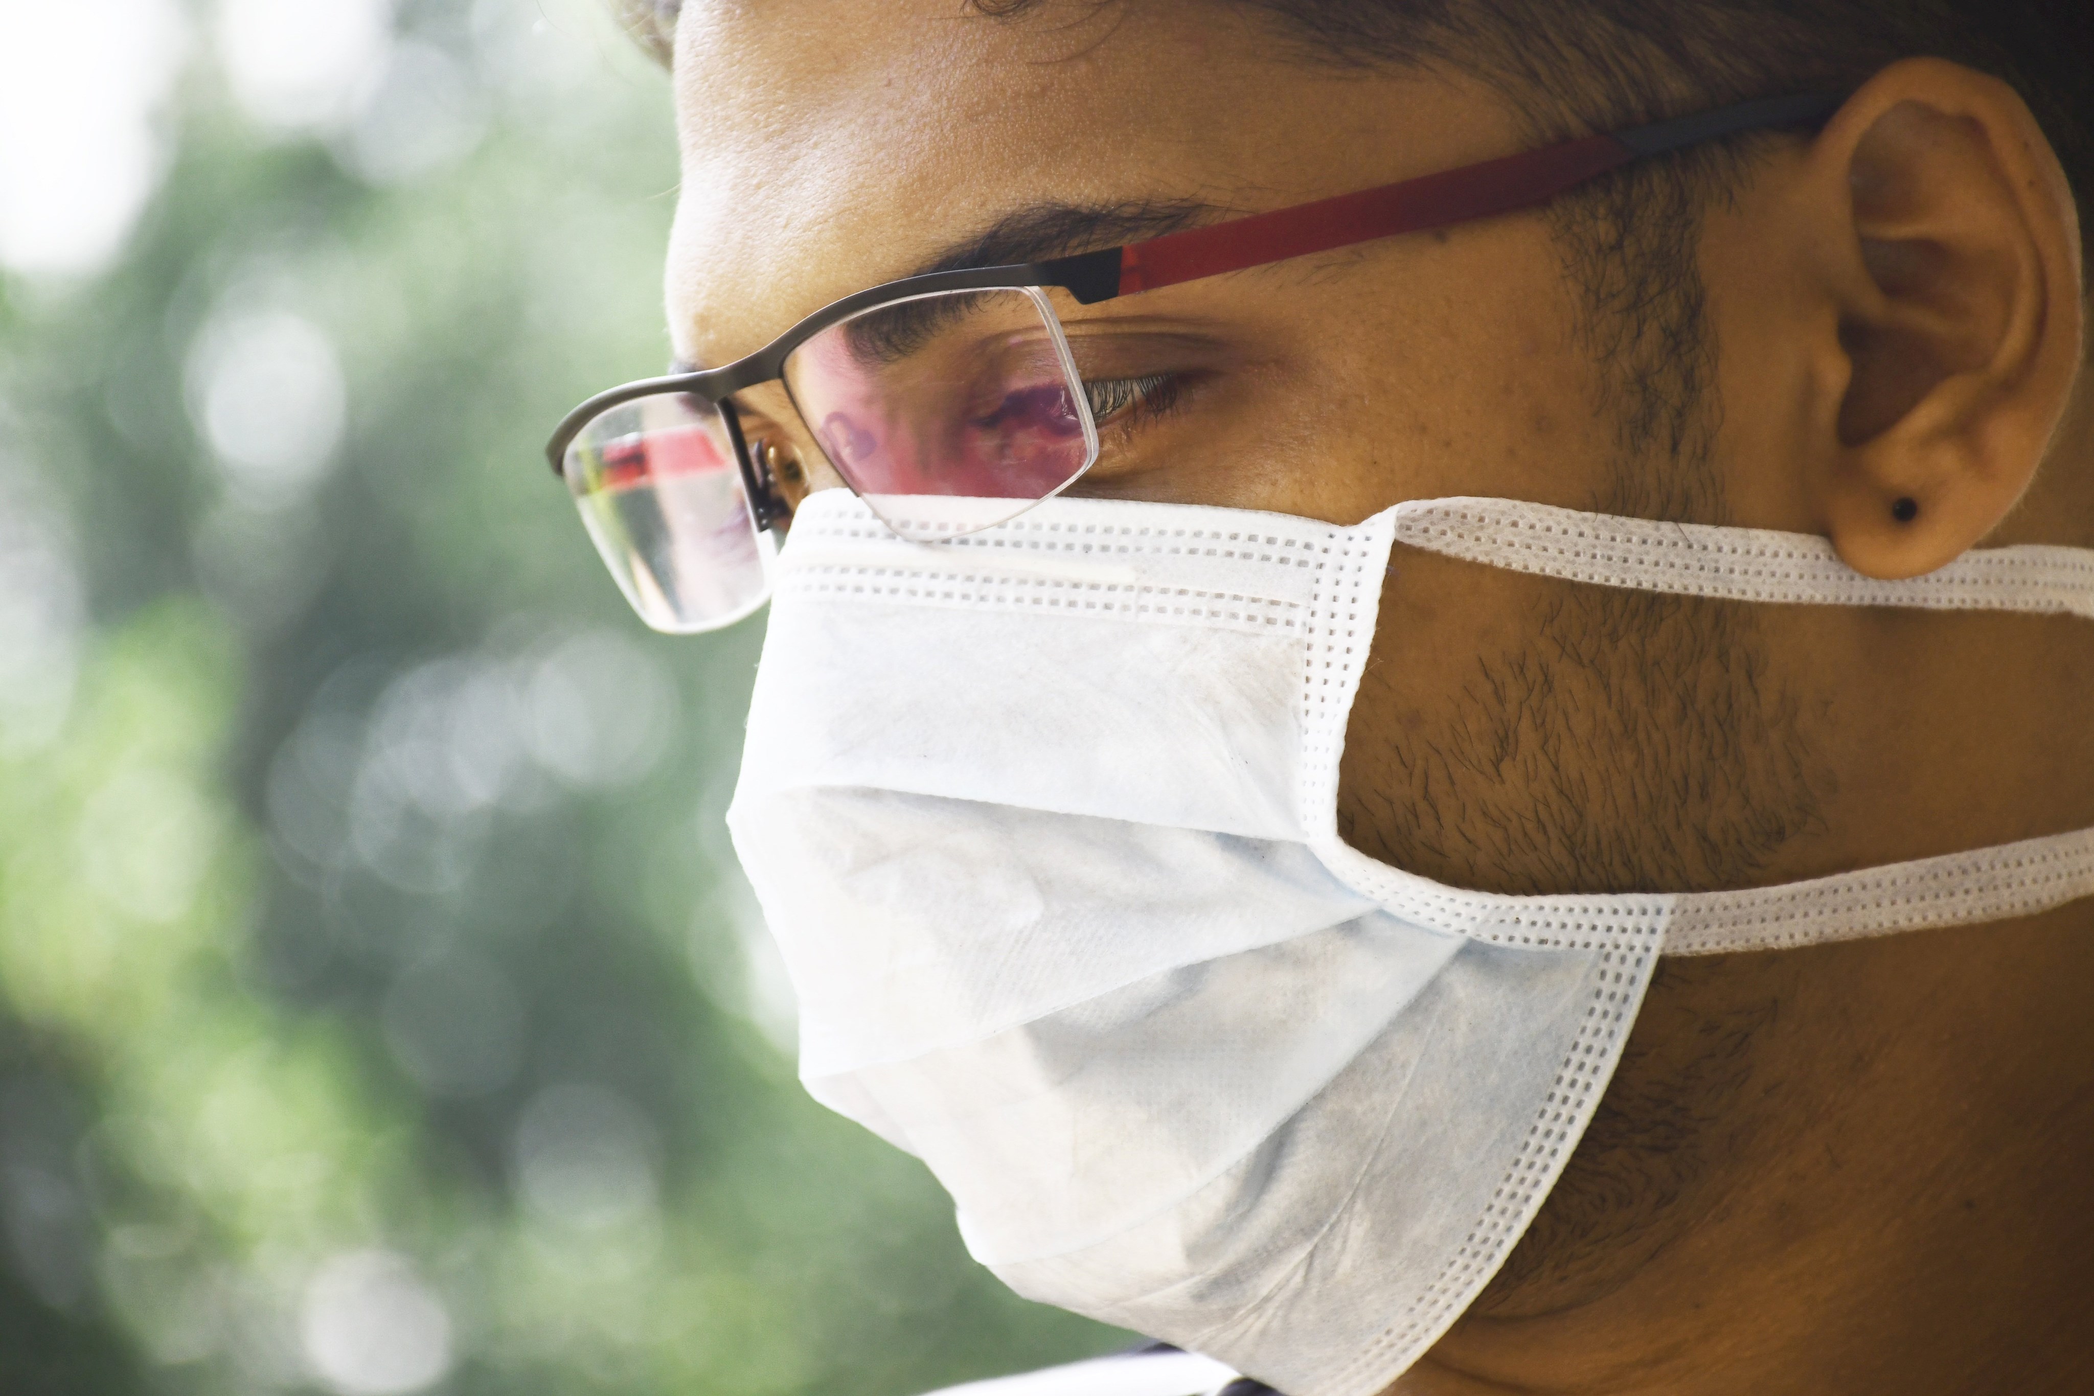
<path id="1" fill-rule="evenodd" d="M 919 1155 L 1020 1293 L 1290 1396 L 1372 1396 L 1460 1316 L 1661 952 L 2094 894 L 2094 831 L 1543 898 L 1346 848 L 1338 756 L 1397 540 L 1700 596 L 2094 617 L 2094 553 L 2071 548 L 1870 582 L 1822 538 L 1508 500 L 1336 527 L 1078 498 L 911 544 L 842 490 L 808 498 L 729 812 L 808 1090 Z"/>

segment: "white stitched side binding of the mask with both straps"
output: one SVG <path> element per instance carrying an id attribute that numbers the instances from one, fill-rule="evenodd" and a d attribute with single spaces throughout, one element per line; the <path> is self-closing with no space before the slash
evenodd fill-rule
<path id="1" fill-rule="evenodd" d="M 1841 563 L 1824 538 L 1803 534 L 1650 523 L 1491 498 L 1416 500 L 1390 515 L 1397 542 L 1573 582 L 1728 601 L 1985 607 L 2094 617 L 2094 553 L 2084 548 L 1987 548 L 1924 578 L 1876 582 Z M 1313 772 L 1305 810 L 1311 812 L 1336 808 L 1342 720 L 1365 659 L 1359 636 L 1374 626 L 1367 592 L 1378 590 L 1378 578 L 1365 571 L 1378 571 L 1378 563 L 1365 567 L 1372 550 L 1359 553 L 1351 569 L 1332 565 L 1330 590 L 1319 596 L 1317 626 L 1311 628 L 1326 649 L 1323 661 L 1311 663 L 1311 676 L 1332 674 L 1305 693 Z M 2008 921 L 2094 896 L 2094 829 L 1836 873 L 1788 887 L 1520 898 L 1445 887 L 1390 869 L 1346 848 L 1334 816 L 1321 825 L 1305 818 L 1317 854 L 1361 894 L 1428 925 L 1527 948 L 1769 950 Z"/>

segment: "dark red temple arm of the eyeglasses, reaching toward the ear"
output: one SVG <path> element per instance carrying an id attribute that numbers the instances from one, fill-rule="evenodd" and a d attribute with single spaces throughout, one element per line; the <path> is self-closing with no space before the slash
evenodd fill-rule
<path id="1" fill-rule="evenodd" d="M 1755 128 L 1824 121 L 1839 105 L 1841 98 L 1822 92 L 1761 98 L 1604 136 L 1583 136 L 1480 165 L 1363 188 L 1355 195 L 1171 232 L 1148 243 L 1078 253 L 1047 266 L 1066 272 L 1055 285 L 1066 285 L 1076 293 L 1076 299 L 1093 303 L 1399 232 L 1426 232 L 1472 218 L 1512 213 L 1547 203 L 1585 180 L 1646 155 L 1679 151 Z"/>

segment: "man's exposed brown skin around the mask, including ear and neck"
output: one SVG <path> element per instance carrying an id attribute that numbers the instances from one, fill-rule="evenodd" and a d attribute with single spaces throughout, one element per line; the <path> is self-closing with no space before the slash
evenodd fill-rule
<path id="1" fill-rule="evenodd" d="M 1480 84 L 1292 63 L 1206 6 L 687 4 L 676 94 L 668 306 L 697 364 L 1041 201 L 1244 213 L 1529 144 Z M 1522 213 L 1064 303 L 1099 362 L 1185 375 L 1081 488 L 1334 521 L 1642 500 L 1822 534 L 1878 578 L 2094 546 L 2079 230 L 2008 86 L 1883 71 L 1769 142 L 1694 260 L 1692 460 L 1625 431 L 1575 266 Z M 748 410 L 838 483 L 779 393 Z M 1654 607 L 1416 553 L 1382 613 L 1340 816 L 1447 883 L 1765 885 L 2094 825 L 2084 622 Z M 2090 988 L 2090 904 L 1667 961 L 1535 1229 L 1393 1392 L 2077 1390 Z"/>

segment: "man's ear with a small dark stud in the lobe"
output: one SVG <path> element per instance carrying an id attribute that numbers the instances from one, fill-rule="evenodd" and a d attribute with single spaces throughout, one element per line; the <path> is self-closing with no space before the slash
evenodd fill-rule
<path id="1" fill-rule="evenodd" d="M 1933 571 L 2029 488 L 2079 370 L 2079 222 L 2035 117 L 1941 59 L 1859 88 L 1807 155 L 1845 373 L 1811 467 L 1849 567 Z"/>

